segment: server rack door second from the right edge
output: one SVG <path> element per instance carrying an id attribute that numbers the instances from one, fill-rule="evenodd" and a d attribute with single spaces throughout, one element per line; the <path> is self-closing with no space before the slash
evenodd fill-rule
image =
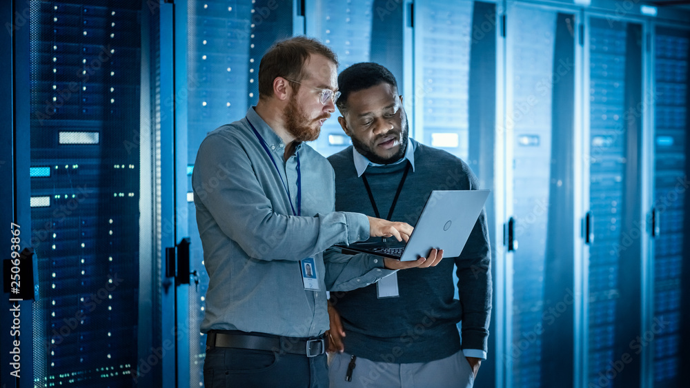
<path id="1" fill-rule="evenodd" d="M 641 320 L 642 25 L 589 18 L 588 384 L 634 387 Z M 644 340 L 642 340 L 644 341 Z M 618 367 L 619 362 L 625 364 Z"/>

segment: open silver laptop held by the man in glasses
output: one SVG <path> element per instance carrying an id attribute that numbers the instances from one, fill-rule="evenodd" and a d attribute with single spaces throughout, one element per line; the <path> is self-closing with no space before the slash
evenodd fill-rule
<path id="1" fill-rule="evenodd" d="M 407 243 L 395 237 L 386 241 L 362 241 L 335 245 L 344 254 L 366 253 L 414 261 L 426 257 L 433 248 L 443 249 L 444 257 L 460 256 L 467 238 L 482 213 L 491 190 L 434 190 L 426 200 L 417 226 Z"/>

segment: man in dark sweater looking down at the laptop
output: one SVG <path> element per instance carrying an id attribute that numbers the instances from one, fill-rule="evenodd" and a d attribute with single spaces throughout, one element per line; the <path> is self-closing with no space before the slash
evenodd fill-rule
<path id="1" fill-rule="evenodd" d="M 357 63 L 343 70 L 338 85 L 338 121 L 353 145 L 328 157 L 336 210 L 381 212 L 414 224 L 432 190 L 477 189 L 466 163 L 408 137 L 402 96 L 388 69 Z M 453 298 L 453 264 L 460 300 Z M 331 350 L 337 351 L 331 387 L 471 387 L 486 358 L 490 266 L 482 211 L 460 257 L 331 293 Z"/>

